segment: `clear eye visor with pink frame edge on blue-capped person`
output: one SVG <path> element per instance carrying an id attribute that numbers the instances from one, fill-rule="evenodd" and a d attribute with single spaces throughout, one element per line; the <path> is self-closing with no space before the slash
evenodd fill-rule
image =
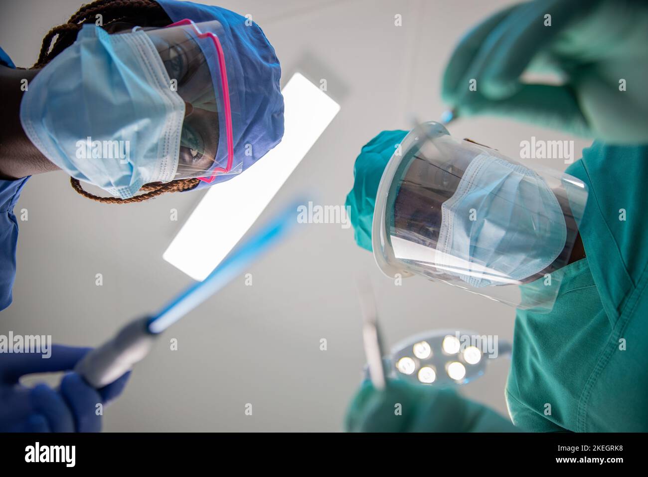
<path id="1" fill-rule="evenodd" d="M 222 25 L 184 19 L 158 29 L 143 29 L 154 43 L 167 70 L 170 88 L 185 101 L 185 119 L 175 179 L 200 178 L 242 171 L 235 160 L 233 116 L 238 97 L 233 69 L 227 69 Z M 233 115 L 234 112 L 234 115 Z M 235 119 L 236 121 L 236 119 Z"/>

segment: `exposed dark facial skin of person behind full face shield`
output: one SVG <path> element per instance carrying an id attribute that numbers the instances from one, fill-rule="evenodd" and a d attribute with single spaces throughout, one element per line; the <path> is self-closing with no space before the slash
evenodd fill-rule
<path id="1" fill-rule="evenodd" d="M 430 162 L 415 156 L 394 203 L 396 228 L 412 230 L 417 234 L 417 240 L 423 239 L 428 243 L 428 247 L 434 248 L 441 227 L 441 204 L 452 197 L 469 163 L 470 160 L 465 158 L 456 158 L 447 162 L 443 168 L 430 167 Z M 562 194 L 555 193 L 555 195 L 568 229 L 575 230 L 575 220 L 568 201 L 562 197 Z M 545 273 L 556 271 L 557 264 L 565 263 L 565 260 L 566 263 L 573 263 L 584 257 L 583 242 L 580 234 L 577 234 L 572 250 L 569 250 L 566 245 L 554 263 L 537 275 L 526 278 L 523 283 L 533 282 Z M 446 276 L 446 278 L 453 279 L 454 276 Z"/>

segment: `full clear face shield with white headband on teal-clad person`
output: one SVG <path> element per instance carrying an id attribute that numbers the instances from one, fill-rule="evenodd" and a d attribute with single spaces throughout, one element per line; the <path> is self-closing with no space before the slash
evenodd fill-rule
<path id="1" fill-rule="evenodd" d="M 422 275 L 548 312 L 578 252 L 587 194 L 575 177 L 424 123 L 404 138 L 380 181 L 376 262 L 388 276 Z"/>

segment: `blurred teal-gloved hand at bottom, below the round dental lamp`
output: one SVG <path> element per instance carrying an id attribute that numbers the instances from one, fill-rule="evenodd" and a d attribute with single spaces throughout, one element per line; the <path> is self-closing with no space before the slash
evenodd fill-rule
<path id="1" fill-rule="evenodd" d="M 397 413 L 400 404 L 400 415 Z M 518 432 L 509 419 L 454 389 L 390 381 L 376 391 L 365 381 L 349 406 L 347 432 Z"/>

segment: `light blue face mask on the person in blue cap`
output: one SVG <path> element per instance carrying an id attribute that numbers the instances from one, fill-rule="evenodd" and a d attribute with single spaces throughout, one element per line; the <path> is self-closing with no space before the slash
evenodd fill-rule
<path id="1" fill-rule="evenodd" d="M 143 31 L 84 25 L 29 84 L 20 120 L 72 177 L 127 199 L 176 174 L 185 103 Z"/>

